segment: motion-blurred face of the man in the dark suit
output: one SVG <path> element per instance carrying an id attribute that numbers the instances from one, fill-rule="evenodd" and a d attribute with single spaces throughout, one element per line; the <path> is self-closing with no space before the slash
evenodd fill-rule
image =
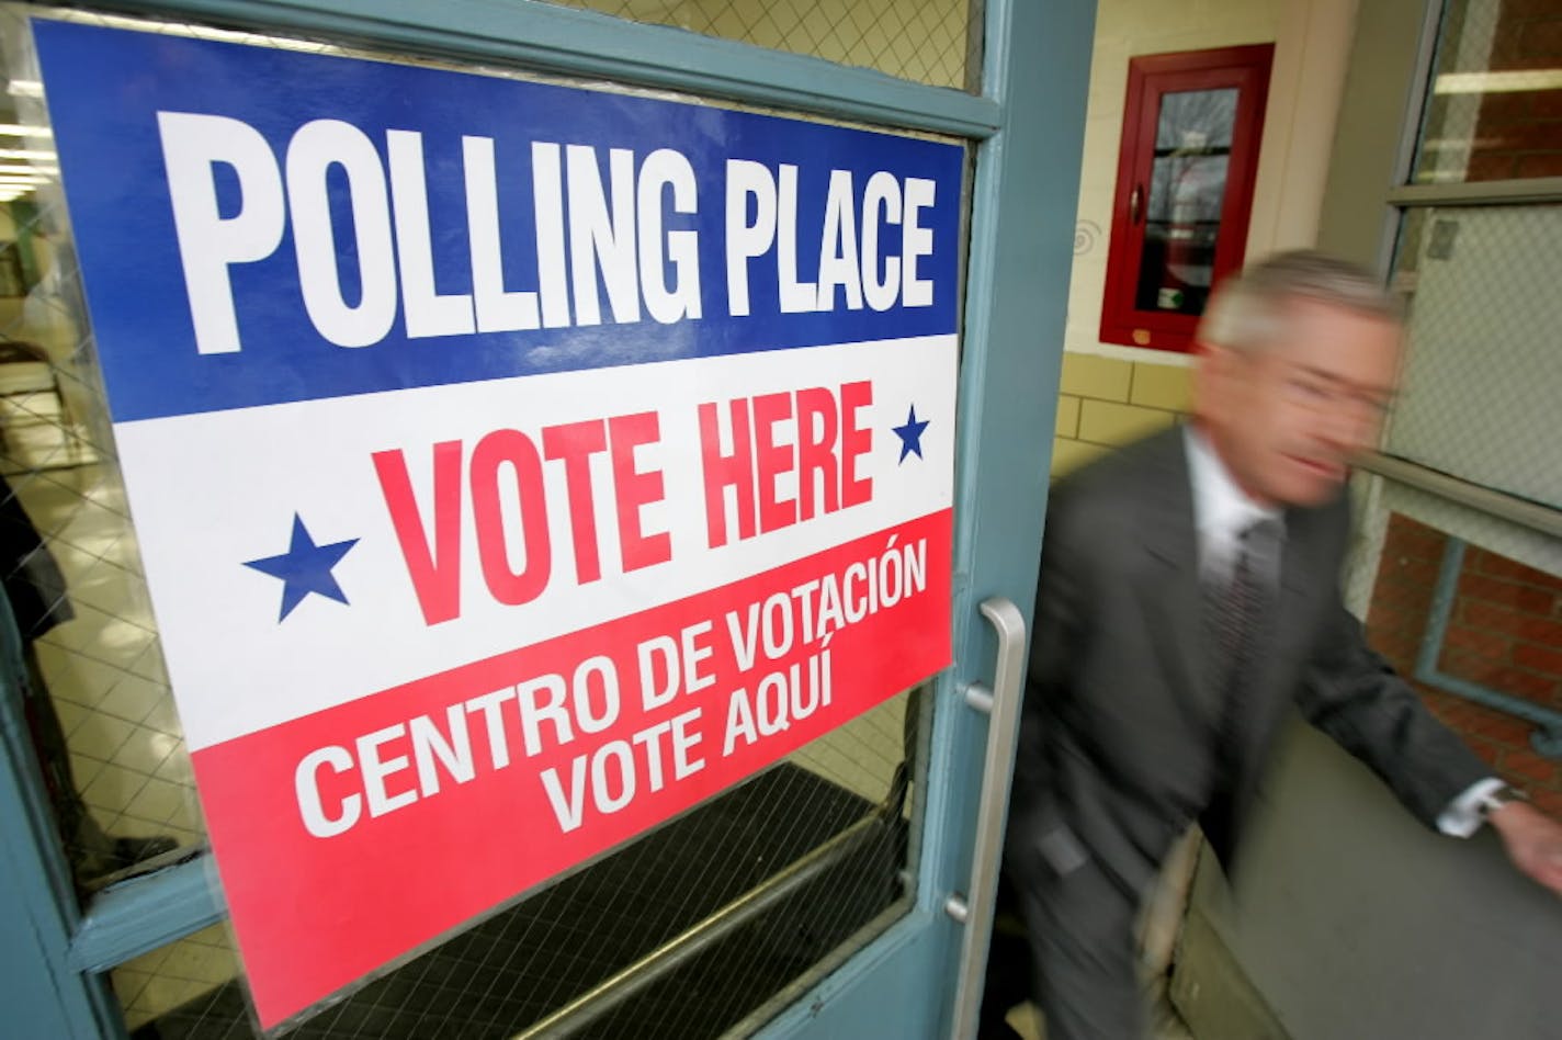
<path id="1" fill-rule="evenodd" d="M 1314 300 L 1287 308 L 1286 334 L 1254 353 L 1206 347 L 1196 414 L 1242 489 L 1270 506 L 1339 493 L 1354 454 L 1376 447 L 1400 370 L 1396 322 Z"/>

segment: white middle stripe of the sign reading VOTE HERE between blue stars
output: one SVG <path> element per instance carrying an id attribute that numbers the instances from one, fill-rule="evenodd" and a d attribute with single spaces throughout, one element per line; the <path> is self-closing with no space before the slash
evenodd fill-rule
<path id="1" fill-rule="evenodd" d="M 934 336 L 122 423 L 189 745 L 948 508 L 954 356 Z"/>

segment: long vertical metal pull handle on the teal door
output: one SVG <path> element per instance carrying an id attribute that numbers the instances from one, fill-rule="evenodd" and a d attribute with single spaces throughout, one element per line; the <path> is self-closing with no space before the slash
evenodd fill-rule
<path id="1" fill-rule="evenodd" d="M 987 974 L 987 934 L 998 895 L 998 857 L 1003 854 L 1004 817 L 1009 810 L 1009 775 L 1020 739 L 1020 696 L 1025 684 L 1025 615 L 1009 600 L 982 600 L 982 615 L 998 632 L 998 667 L 992 689 L 968 682 L 965 703 L 987 715 L 987 754 L 982 759 L 981 803 L 976 809 L 976 849 L 972 854 L 970 892 L 951 895 L 943 909 L 965 926 L 961 968 L 954 987 L 956 1040 L 976 1035 L 976 1017 Z"/>

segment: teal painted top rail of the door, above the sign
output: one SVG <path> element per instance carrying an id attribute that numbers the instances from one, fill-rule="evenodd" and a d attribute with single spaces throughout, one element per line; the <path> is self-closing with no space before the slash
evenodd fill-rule
<path id="1" fill-rule="evenodd" d="M 998 106 L 870 69 L 536 0 L 109 0 L 105 8 L 212 25 L 495 58 L 570 77 L 684 91 L 908 130 L 987 137 Z"/>

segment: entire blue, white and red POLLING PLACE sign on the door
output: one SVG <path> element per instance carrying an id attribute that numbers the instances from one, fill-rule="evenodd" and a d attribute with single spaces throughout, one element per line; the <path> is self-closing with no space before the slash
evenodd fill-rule
<path id="1" fill-rule="evenodd" d="M 959 147 L 33 31 L 264 1026 L 948 664 Z"/>

